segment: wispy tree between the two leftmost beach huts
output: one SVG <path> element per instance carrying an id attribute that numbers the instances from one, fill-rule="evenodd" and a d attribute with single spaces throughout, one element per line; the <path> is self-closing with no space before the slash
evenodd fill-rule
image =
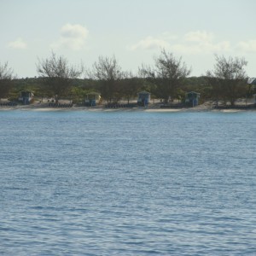
<path id="1" fill-rule="evenodd" d="M 56 56 L 54 52 L 48 59 L 38 60 L 37 69 L 48 95 L 54 96 L 56 103 L 71 88 L 73 79 L 79 78 L 83 73 L 82 66 L 69 66 L 66 58 Z"/>

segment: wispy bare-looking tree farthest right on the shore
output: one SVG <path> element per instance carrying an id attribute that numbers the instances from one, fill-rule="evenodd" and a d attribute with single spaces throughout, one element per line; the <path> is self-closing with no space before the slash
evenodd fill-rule
<path id="1" fill-rule="evenodd" d="M 223 100 L 235 105 L 236 100 L 245 96 L 247 92 L 247 74 L 244 67 L 247 61 L 244 58 L 226 59 L 215 55 L 216 64 L 213 71 L 207 71 L 207 81 L 212 85 L 212 95 L 217 101 Z"/>

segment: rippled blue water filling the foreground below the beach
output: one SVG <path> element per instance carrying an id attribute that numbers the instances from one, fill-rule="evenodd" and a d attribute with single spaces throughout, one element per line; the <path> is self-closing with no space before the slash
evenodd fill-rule
<path id="1" fill-rule="evenodd" d="M 1 255 L 255 255 L 256 112 L 0 111 Z"/>

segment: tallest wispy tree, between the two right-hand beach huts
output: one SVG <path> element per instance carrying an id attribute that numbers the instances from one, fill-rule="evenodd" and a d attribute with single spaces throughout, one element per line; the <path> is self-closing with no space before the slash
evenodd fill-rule
<path id="1" fill-rule="evenodd" d="M 157 84 L 156 96 L 160 96 L 168 101 L 169 97 L 172 99 L 177 97 L 177 88 L 182 84 L 183 79 L 186 78 L 191 69 L 189 69 L 182 57 L 176 59 L 172 53 L 161 50 L 160 56 L 154 59 L 154 67 L 142 66 L 139 68 L 139 73 L 144 78 L 153 79 Z"/>

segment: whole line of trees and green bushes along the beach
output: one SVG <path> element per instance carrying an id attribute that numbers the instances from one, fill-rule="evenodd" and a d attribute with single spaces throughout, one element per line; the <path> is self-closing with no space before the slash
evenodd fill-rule
<path id="1" fill-rule="evenodd" d="M 97 91 L 108 102 L 127 102 L 137 96 L 140 90 L 148 90 L 153 97 L 168 103 L 175 99 L 183 101 L 185 92 L 195 90 L 201 93 L 201 101 L 212 100 L 234 105 L 238 98 L 253 95 L 253 88 L 247 84 L 244 58 L 215 55 L 212 70 L 201 77 L 189 77 L 182 57 L 176 58 L 166 49 L 154 57 L 154 65 L 142 64 L 138 73 L 123 71 L 115 56 L 99 56 L 90 68 L 73 66 L 64 56 L 51 53 L 49 58 L 38 59 L 38 78 L 15 79 L 14 70 L 8 63 L 0 63 L 0 99 L 15 98 L 19 90 L 30 89 L 36 96 L 69 98 L 82 102 L 90 91 Z M 81 77 L 84 78 L 81 79 Z"/>

